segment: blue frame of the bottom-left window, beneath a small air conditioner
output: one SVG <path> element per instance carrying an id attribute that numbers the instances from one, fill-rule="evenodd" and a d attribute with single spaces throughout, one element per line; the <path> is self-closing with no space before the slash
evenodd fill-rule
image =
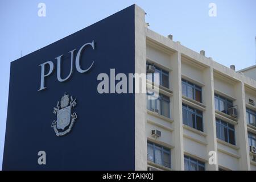
<path id="1" fill-rule="evenodd" d="M 150 141 L 147 141 L 147 147 L 148 146 L 153 148 L 153 160 L 149 160 L 148 156 L 147 156 L 147 160 L 156 163 L 155 162 L 155 149 L 158 148 L 158 150 L 159 150 L 159 148 L 160 148 L 160 151 L 161 151 L 161 163 L 162 164 L 159 164 L 159 165 L 171 168 L 172 165 L 171 165 L 171 149 L 170 148 L 161 146 L 160 144 L 156 144 L 156 143 L 150 142 Z M 164 165 L 164 154 L 168 154 L 169 155 L 169 161 L 168 161 L 169 162 L 169 166 L 165 166 Z M 148 155 L 148 152 L 147 152 L 147 155 Z M 158 164 L 158 163 L 156 163 L 156 164 Z"/>

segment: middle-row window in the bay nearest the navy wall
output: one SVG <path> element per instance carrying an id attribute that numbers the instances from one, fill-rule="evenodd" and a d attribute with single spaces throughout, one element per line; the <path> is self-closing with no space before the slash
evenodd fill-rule
<path id="1" fill-rule="evenodd" d="M 170 98 L 159 94 L 158 98 L 150 100 L 147 96 L 147 109 L 170 118 Z"/>

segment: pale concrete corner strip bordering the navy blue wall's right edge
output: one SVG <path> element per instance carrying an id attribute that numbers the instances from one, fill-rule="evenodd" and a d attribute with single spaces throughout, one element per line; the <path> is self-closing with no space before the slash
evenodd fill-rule
<path id="1" fill-rule="evenodd" d="M 146 74 L 145 13 L 137 5 L 134 8 L 135 73 Z M 146 108 L 146 94 L 135 93 L 135 170 L 147 170 Z"/>

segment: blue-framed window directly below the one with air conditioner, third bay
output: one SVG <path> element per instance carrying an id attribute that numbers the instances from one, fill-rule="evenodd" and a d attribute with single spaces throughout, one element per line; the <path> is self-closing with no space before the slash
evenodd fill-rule
<path id="1" fill-rule="evenodd" d="M 216 119 L 217 138 L 230 144 L 236 145 L 234 125 Z"/>

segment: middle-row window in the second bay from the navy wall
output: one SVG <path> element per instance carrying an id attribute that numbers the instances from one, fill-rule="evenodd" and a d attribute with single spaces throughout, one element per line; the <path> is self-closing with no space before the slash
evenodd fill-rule
<path id="1" fill-rule="evenodd" d="M 185 104 L 182 105 L 183 124 L 203 131 L 203 112 L 193 109 Z"/>

